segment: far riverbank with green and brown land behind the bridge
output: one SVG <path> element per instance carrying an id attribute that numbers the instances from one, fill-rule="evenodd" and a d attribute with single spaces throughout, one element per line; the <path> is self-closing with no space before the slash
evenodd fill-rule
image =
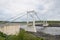
<path id="1" fill-rule="evenodd" d="M 5 23 L 18 23 L 18 24 L 25 24 L 27 25 L 26 21 L 23 22 L 9 22 L 9 21 L 0 21 L 0 24 L 5 24 Z M 32 23 L 32 21 L 30 21 L 29 23 Z M 43 21 L 35 21 L 35 23 L 43 23 Z M 47 27 L 60 27 L 60 21 L 47 21 L 47 23 L 49 24 Z M 38 24 L 38 26 L 42 26 L 42 24 Z"/>

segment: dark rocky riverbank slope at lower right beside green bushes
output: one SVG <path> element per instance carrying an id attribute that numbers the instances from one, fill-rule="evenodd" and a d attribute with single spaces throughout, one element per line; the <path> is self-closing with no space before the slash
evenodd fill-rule
<path id="1" fill-rule="evenodd" d="M 43 32 L 36 32 L 36 33 L 29 32 L 29 33 L 31 33 L 37 37 L 42 37 L 45 40 L 60 40 L 60 35 L 50 35 L 50 34 L 46 34 Z"/>

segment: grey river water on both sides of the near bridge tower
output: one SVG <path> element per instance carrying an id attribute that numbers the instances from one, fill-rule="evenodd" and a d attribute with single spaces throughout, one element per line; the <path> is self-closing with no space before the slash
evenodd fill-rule
<path id="1" fill-rule="evenodd" d="M 21 25 L 21 28 L 25 29 L 26 25 Z M 41 26 L 36 26 L 37 31 L 44 32 L 46 34 L 51 34 L 51 35 L 60 35 L 60 27 L 41 27 Z"/>

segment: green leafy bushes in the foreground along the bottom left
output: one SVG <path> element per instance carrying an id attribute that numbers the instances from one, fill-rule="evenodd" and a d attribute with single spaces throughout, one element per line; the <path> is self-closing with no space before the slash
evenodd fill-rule
<path id="1" fill-rule="evenodd" d="M 28 34 L 25 30 L 21 30 L 17 35 L 6 35 L 0 32 L 0 40 L 43 40 L 32 34 Z"/>

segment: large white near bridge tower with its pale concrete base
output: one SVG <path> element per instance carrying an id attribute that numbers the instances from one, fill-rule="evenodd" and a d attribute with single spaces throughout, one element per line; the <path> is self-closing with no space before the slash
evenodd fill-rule
<path id="1" fill-rule="evenodd" d="M 36 27 L 35 27 L 35 16 L 34 15 L 32 15 L 32 14 L 34 14 L 35 13 L 35 11 L 27 11 L 27 31 L 30 31 L 30 32 L 36 32 Z M 32 19 L 33 19 L 33 21 L 32 21 L 32 25 L 30 25 L 29 26 L 29 14 L 31 14 L 31 16 L 32 16 Z"/>

